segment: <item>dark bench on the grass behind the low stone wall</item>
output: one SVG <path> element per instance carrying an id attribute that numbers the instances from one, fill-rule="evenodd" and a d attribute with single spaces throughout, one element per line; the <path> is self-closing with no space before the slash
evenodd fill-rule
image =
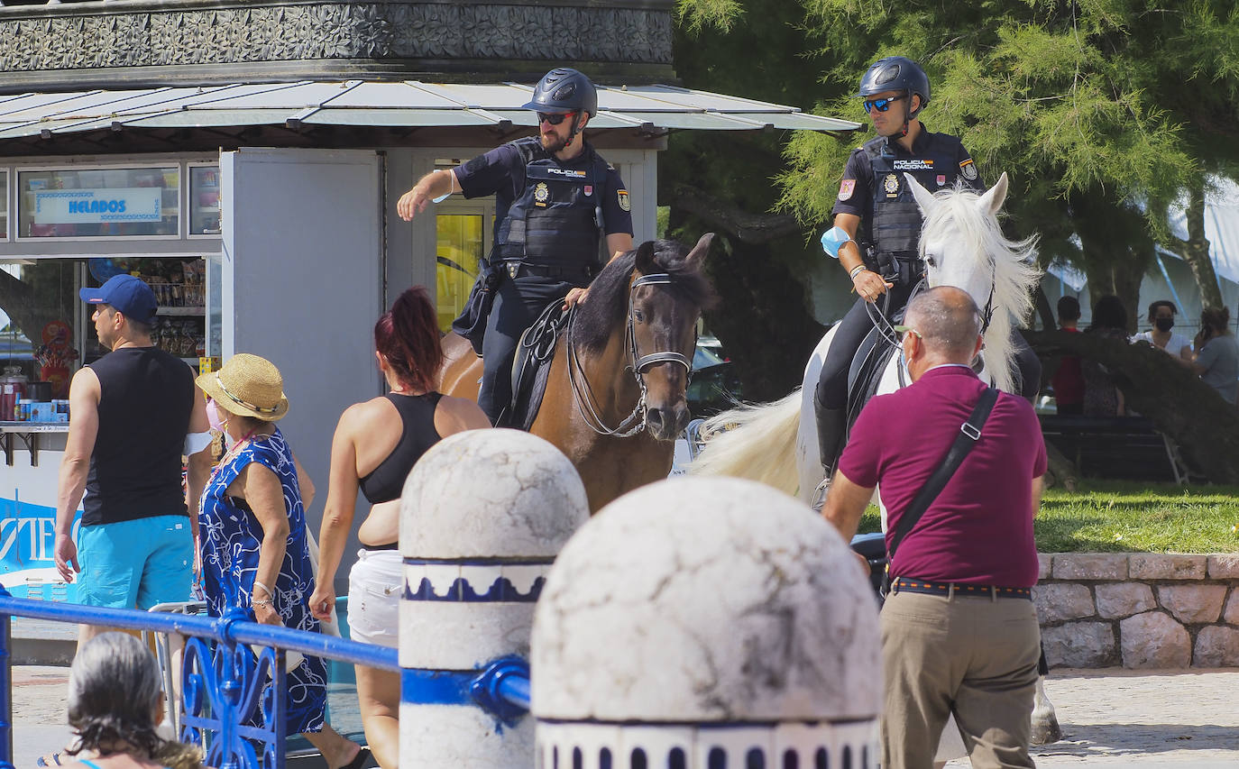
<path id="1" fill-rule="evenodd" d="M 1178 446 L 1145 417 L 1042 415 L 1041 432 L 1080 476 L 1187 483 Z"/>

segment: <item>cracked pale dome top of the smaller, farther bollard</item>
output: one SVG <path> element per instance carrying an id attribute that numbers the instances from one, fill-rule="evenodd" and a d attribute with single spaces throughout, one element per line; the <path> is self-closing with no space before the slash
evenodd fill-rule
<path id="1" fill-rule="evenodd" d="M 558 448 L 517 430 L 471 430 L 436 443 L 409 473 L 400 554 L 554 556 L 589 515 L 585 485 Z"/>

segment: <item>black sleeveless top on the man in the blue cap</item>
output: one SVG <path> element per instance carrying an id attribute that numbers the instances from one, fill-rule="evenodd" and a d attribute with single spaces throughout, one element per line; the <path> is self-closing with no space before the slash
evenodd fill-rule
<path id="1" fill-rule="evenodd" d="M 125 347 L 90 364 L 99 378 L 99 433 L 82 524 L 187 515 L 181 452 L 193 409 L 193 371 L 156 347 Z"/>

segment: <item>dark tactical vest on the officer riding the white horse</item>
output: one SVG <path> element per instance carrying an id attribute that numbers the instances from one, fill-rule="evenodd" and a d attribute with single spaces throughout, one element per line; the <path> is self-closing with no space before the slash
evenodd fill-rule
<path id="1" fill-rule="evenodd" d="M 959 177 L 958 140 L 952 136 L 945 139 L 952 141 L 930 141 L 926 151 L 914 152 L 912 157 L 895 155 L 886 141 L 864 146 L 873 168 L 870 237 L 877 264 L 870 267 L 876 267 L 882 275 L 895 275 L 903 281 L 917 279 L 909 274 L 908 265 L 918 256 L 921 208 L 903 175 L 911 173 L 929 192 L 953 186 Z"/>

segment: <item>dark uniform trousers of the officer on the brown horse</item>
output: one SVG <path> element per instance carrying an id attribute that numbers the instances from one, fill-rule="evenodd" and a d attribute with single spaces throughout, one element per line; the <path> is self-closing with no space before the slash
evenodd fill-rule
<path id="1" fill-rule="evenodd" d="M 589 277 L 584 271 L 581 282 L 539 275 L 508 277 L 504 274 L 494 295 L 491 316 L 486 321 L 486 337 L 482 339 L 482 388 L 477 394 L 477 405 L 491 417 L 492 425 L 512 402 L 512 362 L 520 343 L 520 334 L 534 324 L 546 305 L 563 301 L 575 286 L 587 285 Z"/>

